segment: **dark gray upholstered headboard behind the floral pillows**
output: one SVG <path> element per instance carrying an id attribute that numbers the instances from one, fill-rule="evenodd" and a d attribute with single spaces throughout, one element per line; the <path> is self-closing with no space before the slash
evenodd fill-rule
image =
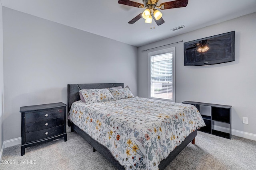
<path id="1" fill-rule="evenodd" d="M 124 88 L 124 83 L 68 84 L 68 112 L 70 111 L 72 103 L 80 100 L 80 89 L 99 89 L 116 86 L 122 86 L 122 88 Z"/>

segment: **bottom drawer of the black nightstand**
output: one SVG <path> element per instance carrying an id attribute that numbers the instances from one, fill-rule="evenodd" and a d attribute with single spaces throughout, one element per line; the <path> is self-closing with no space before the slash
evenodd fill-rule
<path id="1" fill-rule="evenodd" d="M 64 133 L 63 125 L 57 126 L 57 127 L 52 127 L 49 129 L 43 129 L 40 131 L 29 132 L 29 133 L 26 133 L 26 143 L 42 140 L 42 139 L 45 139 L 48 137 L 60 135 L 62 133 Z"/>

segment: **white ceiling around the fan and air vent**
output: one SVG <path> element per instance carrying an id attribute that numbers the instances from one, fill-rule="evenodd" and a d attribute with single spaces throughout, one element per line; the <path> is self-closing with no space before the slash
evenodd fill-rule
<path id="1" fill-rule="evenodd" d="M 133 0 L 142 3 L 142 0 Z M 162 2 L 171 0 L 159 0 Z M 1 0 L 2 6 L 46 20 L 140 47 L 222 21 L 256 12 L 256 0 L 189 0 L 184 8 L 161 10 L 165 23 L 150 29 L 141 18 L 142 8 L 118 4 L 118 0 Z M 256 21 L 256 20 L 255 20 Z M 185 28 L 172 31 L 174 27 Z"/>

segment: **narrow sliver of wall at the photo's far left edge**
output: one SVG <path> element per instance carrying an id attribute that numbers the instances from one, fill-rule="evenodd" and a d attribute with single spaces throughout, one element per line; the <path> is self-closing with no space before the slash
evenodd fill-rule
<path id="1" fill-rule="evenodd" d="M 3 55 L 3 22 L 2 4 L 0 5 L 0 150 L 3 145 L 3 117 L 4 117 L 4 55 Z M 2 156 L 0 154 L 0 156 Z"/>

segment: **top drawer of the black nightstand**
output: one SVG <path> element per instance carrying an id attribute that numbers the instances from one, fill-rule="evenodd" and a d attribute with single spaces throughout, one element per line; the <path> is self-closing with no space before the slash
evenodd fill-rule
<path id="1" fill-rule="evenodd" d="M 64 117 L 64 109 L 54 109 L 25 114 L 25 123 Z"/>

